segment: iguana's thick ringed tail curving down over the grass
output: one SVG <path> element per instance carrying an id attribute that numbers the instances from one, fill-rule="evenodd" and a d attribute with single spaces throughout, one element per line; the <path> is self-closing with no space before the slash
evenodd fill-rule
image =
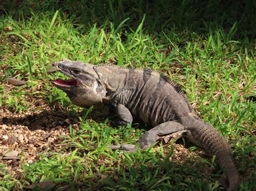
<path id="1" fill-rule="evenodd" d="M 188 135 L 188 138 L 191 139 L 194 144 L 200 146 L 211 155 L 216 156 L 216 160 L 224 169 L 229 182 L 227 190 L 238 190 L 239 174 L 234 165 L 230 148 L 228 147 L 224 137 L 221 136 L 213 126 L 207 124 L 201 119 L 196 119 L 187 126 L 188 130 L 191 132 L 191 135 Z"/>

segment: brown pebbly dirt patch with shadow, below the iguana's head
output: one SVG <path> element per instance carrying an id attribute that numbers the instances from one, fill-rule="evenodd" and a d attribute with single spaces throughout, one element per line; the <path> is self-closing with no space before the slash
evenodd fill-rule
<path id="1" fill-rule="evenodd" d="M 28 100 L 32 105 L 38 103 L 33 97 Z M 58 107 L 41 103 L 39 110 L 31 107 L 21 113 L 0 108 L 0 163 L 8 166 L 10 174 L 16 174 L 22 161 L 32 164 L 38 160 L 39 153 L 58 151 L 64 140 L 59 135 L 69 136 L 73 119 Z"/>

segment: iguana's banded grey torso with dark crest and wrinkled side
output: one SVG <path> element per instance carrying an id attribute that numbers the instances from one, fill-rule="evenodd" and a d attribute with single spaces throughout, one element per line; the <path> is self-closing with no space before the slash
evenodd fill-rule
<path id="1" fill-rule="evenodd" d="M 111 100 L 106 102 L 125 105 L 134 118 L 139 118 L 153 127 L 167 121 L 180 121 L 181 116 L 194 113 L 179 86 L 152 69 L 127 69 L 106 65 L 96 68 L 98 73 L 106 74 L 108 77 L 122 76 L 122 83 L 112 82 L 114 87 L 117 87 L 115 83 L 122 86 L 113 91 Z M 111 74 L 107 73 L 109 70 Z"/>

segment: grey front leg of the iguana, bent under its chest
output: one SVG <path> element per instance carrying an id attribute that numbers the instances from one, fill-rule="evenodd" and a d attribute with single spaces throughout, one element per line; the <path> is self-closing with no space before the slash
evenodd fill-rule
<path id="1" fill-rule="evenodd" d="M 132 114 L 123 104 L 117 104 L 115 111 L 118 119 L 113 121 L 114 126 L 122 126 L 126 125 L 127 123 L 132 123 Z"/>

